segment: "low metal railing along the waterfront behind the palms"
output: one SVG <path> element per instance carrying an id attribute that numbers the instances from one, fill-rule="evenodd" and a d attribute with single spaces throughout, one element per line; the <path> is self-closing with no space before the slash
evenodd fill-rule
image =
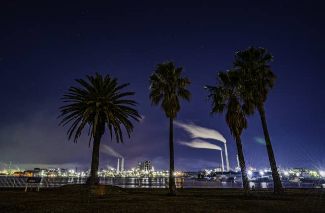
<path id="1" fill-rule="evenodd" d="M 86 177 L 43 177 L 42 188 L 60 187 L 68 184 L 85 184 Z M 0 188 L 25 187 L 27 177 L 0 177 Z M 175 179 L 177 188 L 243 188 L 241 181 L 216 181 L 216 180 L 196 180 L 196 179 Z M 167 178 L 107 178 L 102 177 L 100 184 L 114 185 L 122 188 L 167 188 L 169 180 Z M 273 188 L 273 182 L 250 182 L 251 188 L 267 189 Z M 293 181 L 283 181 L 283 188 L 316 188 L 325 189 L 325 183 L 302 183 Z"/>

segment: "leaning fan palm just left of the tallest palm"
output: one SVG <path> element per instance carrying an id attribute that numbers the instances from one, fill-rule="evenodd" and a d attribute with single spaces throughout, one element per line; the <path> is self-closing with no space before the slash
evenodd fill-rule
<path id="1" fill-rule="evenodd" d="M 228 73 L 219 72 L 217 86 L 205 86 L 211 93 L 207 99 L 212 100 L 211 115 L 225 113 L 225 122 L 229 126 L 237 145 L 240 168 L 242 171 L 244 195 L 249 194 L 249 182 L 243 154 L 241 134 L 247 128 L 247 120 L 240 100 L 239 75 L 233 70 Z"/>

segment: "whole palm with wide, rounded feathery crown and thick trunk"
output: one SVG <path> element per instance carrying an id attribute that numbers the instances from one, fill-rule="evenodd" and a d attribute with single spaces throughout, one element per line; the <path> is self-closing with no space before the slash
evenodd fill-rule
<path id="1" fill-rule="evenodd" d="M 100 144 L 106 124 L 110 130 L 111 139 L 113 139 L 112 131 L 114 130 L 116 142 L 121 141 L 123 144 L 121 125 L 124 126 L 128 137 L 130 137 L 134 126 L 129 118 L 139 122 L 141 116 L 137 110 L 132 108 L 138 103 L 134 100 L 124 99 L 135 93 L 120 91 L 128 86 L 128 83 L 117 85 L 117 78 L 111 79 L 107 75 L 103 79 L 102 75 L 98 73 L 95 74 L 95 77 L 87 75 L 86 78 L 90 83 L 83 79 L 76 79 L 81 87 L 70 87 L 68 92 L 64 92 L 61 99 L 68 104 L 59 108 L 61 115 L 58 118 L 62 117 L 59 125 L 65 126 L 72 123 L 67 134 L 69 134 L 69 139 L 74 134 L 74 143 L 77 143 L 84 127 L 89 126 L 88 146 L 90 147 L 91 138 L 93 138 L 93 147 L 90 177 L 87 184 L 98 185 Z"/>

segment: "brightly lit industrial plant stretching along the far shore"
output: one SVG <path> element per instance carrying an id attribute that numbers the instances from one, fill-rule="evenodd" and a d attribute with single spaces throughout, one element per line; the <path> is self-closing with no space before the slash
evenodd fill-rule
<path id="1" fill-rule="evenodd" d="M 272 172 L 270 168 L 252 168 L 248 169 L 248 179 L 250 181 L 272 181 Z M 316 171 L 308 168 L 278 168 L 281 180 L 287 181 L 304 181 L 304 180 L 323 180 L 325 178 L 325 171 Z M 11 162 L 8 170 L 0 171 L 0 175 L 4 176 L 42 176 L 42 177 L 87 177 L 90 174 L 88 171 L 80 171 L 78 168 L 35 168 L 34 170 L 14 171 L 11 169 Z M 124 169 L 124 158 L 117 158 L 116 168 L 99 169 L 100 177 L 132 177 L 132 178 L 167 178 L 169 177 L 168 170 L 155 171 L 151 165 L 151 160 L 147 159 L 143 162 L 138 162 L 138 165 L 131 169 Z M 242 175 L 237 156 L 237 167 L 235 170 L 228 169 L 225 171 L 224 167 L 214 169 L 202 169 L 200 171 L 175 171 L 176 178 L 183 179 L 206 179 L 206 180 L 237 180 L 241 181 Z"/>

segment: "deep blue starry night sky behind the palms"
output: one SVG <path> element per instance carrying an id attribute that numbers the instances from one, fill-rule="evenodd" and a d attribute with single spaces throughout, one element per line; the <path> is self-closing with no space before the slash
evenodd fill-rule
<path id="1" fill-rule="evenodd" d="M 124 168 L 151 159 L 156 170 L 168 167 L 169 120 L 151 107 L 148 78 L 156 63 L 173 60 L 184 67 L 192 93 L 181 102 L 176 121 L 219 131 L 228 141 L 231 168 L 237 166 L 236 144 L 224 116 L 210 117 L 204 85 L 214 85 L 218 70 L 231 68 L 235 53 L 249 46 L 274 55 L 275 88 L 265 103 L 277 164 L 286 167 L 325 167 L 323 70 L 325 30 L 321 7 L 292 8 L 291 4 L 234 5 L 164 4 L 18 4 L 0 5 L 0 170 L 60 166 L 90 167 L 91 148 L 85 134 L 68 141 L 58 126 L 59 99 L 74 79 L 99 72 L 129 82 L 143 116 L 125 143 L 102 144 L 124 157 Z M 128 8 L 123 8 L 127 6 Z M 180 7 L 189 7 L 182 9 Z M 319 8 L 319 9 L 317 9 Z M 86 132 L 86 131 L 84 131 Z M 242 134 L 246 163 L 269 167 L 259 114 L 248 118 Z M 209 140 L 222 147 L 220 141 Z M 200 170 L 221 163 L 217 150 L 194 149 L 181 128 L 174 129 L 175 169 Z M 116 157 L 101 153 L 100 168 L 116 167 Z"/>

